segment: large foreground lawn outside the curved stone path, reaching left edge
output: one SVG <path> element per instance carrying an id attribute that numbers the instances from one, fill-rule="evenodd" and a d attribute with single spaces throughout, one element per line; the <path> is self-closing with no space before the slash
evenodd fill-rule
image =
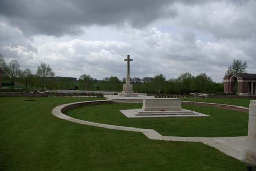
<path id="1" fill-rule="evenodd" d="M 0 98 L 0 170 L 246 170 L 202 143 L 150 140 L 51 114 L 57 105 L 92 98 L 25 99 Z"/>

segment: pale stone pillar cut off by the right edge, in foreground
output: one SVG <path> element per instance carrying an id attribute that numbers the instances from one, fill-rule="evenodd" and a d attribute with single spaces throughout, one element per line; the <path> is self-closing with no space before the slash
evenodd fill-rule
<path id="1" fill-rule="evenodd" d="M 250 101 L 248 137 L 245 140 L 243 159 L 246 163 L 256 165 L 256 100 Z"/>

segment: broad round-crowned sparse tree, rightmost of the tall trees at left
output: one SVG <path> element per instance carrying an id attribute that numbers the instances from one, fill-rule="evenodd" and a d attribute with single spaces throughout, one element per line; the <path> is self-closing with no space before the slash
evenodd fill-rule
<path id="1" fill-rule="evenodd" d="M 50 77 L 55 76 L 55 74 L 52 71 L 50 65 L 47 65 L 46 63 L 41 63 L 41 65 L 38 66 L 36 74 L 40 78 L 43 89 L 45 89 L 46 84 L 50 80 Z"/>

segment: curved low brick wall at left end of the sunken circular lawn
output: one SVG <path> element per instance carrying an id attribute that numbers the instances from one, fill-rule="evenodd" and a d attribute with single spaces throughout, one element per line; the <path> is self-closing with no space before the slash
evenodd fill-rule
<path id="1" fill-rule="evenodd" d="M 73 103 L 73 104 L 67 105 L 61 109 L 61 112 L 65 112 L 70 109 L 80 108 L 83 106 L 111 104 L 111 103 L 112 103 L 112 100 L 83 101 L 83 102 L 78 102 L 78 103 Z"/>

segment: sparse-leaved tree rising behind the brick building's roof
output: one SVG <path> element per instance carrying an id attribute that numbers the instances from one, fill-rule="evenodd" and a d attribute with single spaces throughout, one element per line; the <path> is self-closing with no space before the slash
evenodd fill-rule
<path id="1" fill-rule="evenodd" d="M 230 67 L 228 67 L 228 70 L 225 73 L 225 76 L 229 75 L 229 74 L 236 74 L 236 73 L 247 73 L 246 69 L 247 69 L 248 65 L 247 65 L 247 61 L 245 61 L 244 63 L 241 60 L 233 60 L 233 63 Z"/>

